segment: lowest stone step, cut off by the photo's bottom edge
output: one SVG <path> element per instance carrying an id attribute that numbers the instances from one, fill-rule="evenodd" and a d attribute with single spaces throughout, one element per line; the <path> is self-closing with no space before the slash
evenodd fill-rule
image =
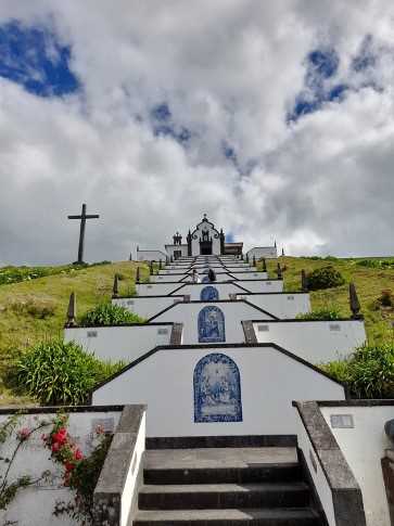
<path id="1" fill-rule="evenodd" d="M 134 526 L 319 526 L 316 512 L 298 509 L 139 511 Z"/>

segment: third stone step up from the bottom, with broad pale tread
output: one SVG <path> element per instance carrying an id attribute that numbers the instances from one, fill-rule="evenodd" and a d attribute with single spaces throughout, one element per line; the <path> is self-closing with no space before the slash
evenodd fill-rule
<path id="1" fill-rule="evenodd" d="M 149 450 L 145 484 L 226 484 L 301 478 L 295 448 L 202 448 Z"/>

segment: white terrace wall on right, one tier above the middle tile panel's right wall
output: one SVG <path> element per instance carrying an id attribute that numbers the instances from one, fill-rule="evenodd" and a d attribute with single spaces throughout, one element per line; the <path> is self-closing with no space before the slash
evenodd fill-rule
<path id="1" fill-rule="evenodd" d="M 278 282 L 272 282 L 278 283 Z M 242 285 L 243 286 L 243 285 Z M 267 291 L 268 292 L 268 291 Z M 268 310 L 277 318 L 295 318 L 300 313 L 310 310 L 309 294 L 237 294 L 237 299 L 247 299 L 260 309 Z"/>

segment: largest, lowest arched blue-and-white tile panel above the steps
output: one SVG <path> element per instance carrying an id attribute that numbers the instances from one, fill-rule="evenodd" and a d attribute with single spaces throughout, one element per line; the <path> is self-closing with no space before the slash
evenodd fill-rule
<path id="1" fill-rule="evenodd" d="M 204 356 L 194 369 L 194 422 L 242 422 L 241 379 L 226 355 Z"/>

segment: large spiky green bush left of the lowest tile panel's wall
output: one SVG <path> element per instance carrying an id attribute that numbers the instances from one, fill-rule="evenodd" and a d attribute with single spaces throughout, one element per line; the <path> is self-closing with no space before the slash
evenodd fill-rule
<path id="1" fill-rule="evenodd" d="M 16 361 L 16 382 L 43 405 L 78 405 L 87 401 L 99 382 L 124 367 L 102 362 L 75 342 L 42 342 Z"/>

